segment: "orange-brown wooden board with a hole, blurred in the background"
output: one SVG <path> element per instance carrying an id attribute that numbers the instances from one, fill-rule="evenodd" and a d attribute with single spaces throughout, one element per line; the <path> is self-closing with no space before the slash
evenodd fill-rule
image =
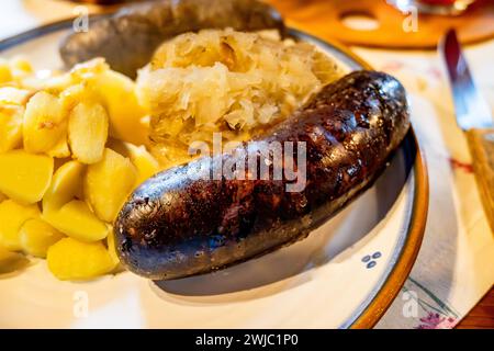
<path id="1" fill-rule="evenodd" d="M 405 32 L 401 13 L 385 0 L 267 0 L 291 26 L 322 38 L 349 45 L 388 48 L 435 48 L 439 38 L 456 27 L 463 44 L 494 37 L 494 0 L 480 0 L 458 16 L 419 14 L 416 32 Z M 371 31 L 352 30 L 341 22 L 348 13 L 369 14 L 379 22 Z M 406 22 L 411 24 L 411 22 Z M 411 26 L 405 26 L 409 29 Z"/>

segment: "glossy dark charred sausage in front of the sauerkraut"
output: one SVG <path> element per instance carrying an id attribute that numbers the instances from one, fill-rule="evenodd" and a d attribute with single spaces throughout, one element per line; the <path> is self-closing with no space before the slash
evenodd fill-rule
<path id="1" fill-rule="evenodd" d="M 210 165 L 209 157 L 166 170 L 144 182 L 116 219 L 121 261 L 146 278 L 179 279 L 304 238 L 372 183 L 408 126 L 405 90 L 396 79 L 352 72 L 323 88 L 258 140 L 305 143 L 303 191 L 287 192 L 285 179 L 189 177 Z"/>

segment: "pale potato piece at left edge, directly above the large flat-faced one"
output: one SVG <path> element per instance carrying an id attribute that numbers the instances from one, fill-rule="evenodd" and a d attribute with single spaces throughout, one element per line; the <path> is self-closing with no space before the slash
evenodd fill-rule
<path id="1" fill-rule="evenodd" d="M 0 107 L 0 154 L 21 146 L 23 115 L 24 107 Z"/>

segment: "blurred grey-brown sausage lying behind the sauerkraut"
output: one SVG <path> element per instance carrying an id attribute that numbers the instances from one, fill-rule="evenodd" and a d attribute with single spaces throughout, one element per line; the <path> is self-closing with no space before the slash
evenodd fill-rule
<path id="1" fill-rule="evenodd" d="M 67 67 L 104 57 L 112 69 L 134 78 L 164 41 L 203 29 L 284 31 L 281 15 L 257 0 L 159 0 L 123 8 L 96 20 L 88 32 L 74 32 L 60 43 Z"/>

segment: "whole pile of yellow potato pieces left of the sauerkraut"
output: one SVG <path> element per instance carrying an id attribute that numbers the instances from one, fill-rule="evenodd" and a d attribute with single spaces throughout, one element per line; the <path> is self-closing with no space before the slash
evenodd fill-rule
<path id="1" fill-rule="evenodd" d="M 60 280 L 115 270 L 112 223 L 159 170 L 144 121 L 134 82 L 101 59 L 46 79 L 0 60 L 0 274 L 21 252 Z"/>

